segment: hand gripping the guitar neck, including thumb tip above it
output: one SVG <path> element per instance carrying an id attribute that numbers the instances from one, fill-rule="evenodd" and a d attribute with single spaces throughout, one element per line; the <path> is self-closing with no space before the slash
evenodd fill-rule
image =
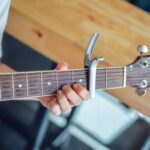
<path id="1" fill-rule="evenodd" d="M 56 70 L 68 70 L 67 63 L 59 63 Z M 55 115 L 68 113 L 72 107 L 80 105 L 84 100 L 89 99 L 89 92 L 79 83 L 72 86 L 64 85 L 61 90 L 57 91 L 56 96 L 44 97 L 40 99 L 41 104 Z"/>

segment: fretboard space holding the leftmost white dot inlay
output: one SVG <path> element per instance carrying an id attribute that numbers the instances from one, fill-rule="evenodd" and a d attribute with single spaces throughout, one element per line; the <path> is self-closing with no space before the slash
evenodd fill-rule
<path id="1" fill-rule="evenodd" d="M 13 74 L 14 98 L 27 97 L 26 73 Z"/>

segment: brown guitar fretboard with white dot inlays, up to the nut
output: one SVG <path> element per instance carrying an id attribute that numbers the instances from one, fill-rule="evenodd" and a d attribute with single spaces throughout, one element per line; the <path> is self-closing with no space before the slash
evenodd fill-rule
<path id="1" fill-rule="evenodd" d="M 73 83 L 88 88 L 89 70 L 3 73 L 0 74 L 0 100 L 50 96 L 63 85 Z M 126 85 L 126 67 L 97 69 L 96 89 L 122 88 Z"/>

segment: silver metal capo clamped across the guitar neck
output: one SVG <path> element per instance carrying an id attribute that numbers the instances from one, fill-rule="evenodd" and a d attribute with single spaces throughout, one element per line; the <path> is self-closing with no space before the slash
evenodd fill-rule
<path id="1" fill-rule="evenodd" d="M 92 35 L 84 59 L 84 67 L 89 69 L 89 91 L 90 91 L 91 98 L 95 98 L 97 64 L 98 62 L 104 60 L 104 58 L 102 57 L 95 58 L 95 59 L 92 58 L 93 49 L 98 37 L 99 37 L 98 33 L 94 33 Z"/>

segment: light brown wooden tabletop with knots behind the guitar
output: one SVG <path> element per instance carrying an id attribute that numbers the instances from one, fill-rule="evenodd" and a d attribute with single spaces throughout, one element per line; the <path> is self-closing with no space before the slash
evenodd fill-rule
<path id="1" fill-rule="evenodd" d="M 56 61 L 81 68 L 93 32 L 99 32 L 94 56 L 101 66 L 124 66 L 138 55 L 136 47 L 150 46 L 150 16 L 122 0 L 12 0 L 6 31 Z M 150 116 L 150 91 L 136 96 L 133 89 L 108 91 L 127 105 Z"/>

